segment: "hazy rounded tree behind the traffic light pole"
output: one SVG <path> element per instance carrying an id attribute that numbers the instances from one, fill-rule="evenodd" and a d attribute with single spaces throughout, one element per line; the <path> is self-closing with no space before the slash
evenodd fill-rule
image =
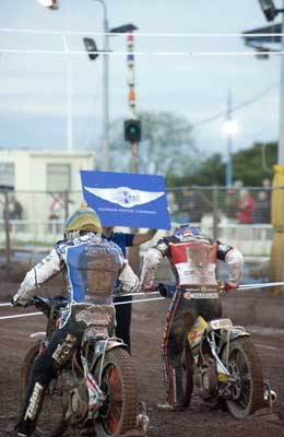
<path id="1" fill-rule="evenodd" d="M 173 113 L 142 111 L 140 172 L 164 176 L 191 173 L 200 162 L 189 121 Z M 129 172 L 131 146 L 123 139 L 123 120 L 110 127 L 111 170 Z"/>

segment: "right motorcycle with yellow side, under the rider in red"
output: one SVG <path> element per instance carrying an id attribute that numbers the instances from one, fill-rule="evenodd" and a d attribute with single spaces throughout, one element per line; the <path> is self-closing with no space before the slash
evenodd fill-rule
<path id="1" fill-rule="evenodd" d="M 157 290 L 165 296 L 163 284 Z M 220 284 L 222 292 L 224 284 Z M 230 319 L 205 321 L 199 316 L 188 332 L 181 363 L 185 408 L 191 402 L 194 387 L 203 401 L 214 405 L 222 402 L 236 418 L 272 406 L 276 400 L 276 393 L 263 382 L 250 334 Z"/>

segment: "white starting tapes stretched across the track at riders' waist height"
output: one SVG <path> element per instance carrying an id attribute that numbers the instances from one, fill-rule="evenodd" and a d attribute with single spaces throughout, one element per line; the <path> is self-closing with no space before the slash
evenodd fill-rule
<path id="1" fill-rule="evenodd" d="M 269 287 L 276 287 L 276 286 L 282 286 L 284 285 L 284 282 L 268 282 L 268 283 L 261 283 L 261 284 L 244 284 L 240 285 L 237 290 L 241 292 L 250 291 L 250 290 L 259 290 L 259 288 L 269 288 Z M 173 288 L 173 286 L 170 286 Z M 123 295 L 126 296 L 144 296 L 147 297 L 149 295 L 156 295 L 159 294 L 159 292 L 150 292 L 150 293 L 130 293 Z M 146 303 L 146 302 L 153 302 L 153 300 L 164 300 L 166 297 L 159 296 L 159 297 L 147 297 L 143 299 L 135 299 L 135 300 L 123 300 L 123 302 L 116 302 L 114 305 L 127 305 L 127 304 L 141 304 L 141 303 Z M 10 303 L 2 303 L 0 304 L 0 307 L 11 307 L 12 304 Z M 22 315 L 11 315 L 11 316 L 2 316 L 0 317 L 0 320 L 7 320 L 7 319 L 15 319 L 15 318 L 22 318 L 22 317 L 31 317 L 31 316 L 38 316 L 43 315 L 43 312 L 28 312 L 28 314 L 22 314 Z"/>

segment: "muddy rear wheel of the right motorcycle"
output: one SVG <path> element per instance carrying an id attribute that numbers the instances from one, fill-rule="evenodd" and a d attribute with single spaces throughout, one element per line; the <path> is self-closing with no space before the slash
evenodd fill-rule
<path id="1" fill-rule="evenodd" d="M 228 352 L 228 366 L 226 364 Z M 222 362 L 230 374 L 238 378 L 233 386 L 232 399 L 226 399 L 226 406 L 236 418 L 246 418 L 263 406 L 263 377 L 258 353 L 248 336 L 241 336 L 225 346 Z"/>

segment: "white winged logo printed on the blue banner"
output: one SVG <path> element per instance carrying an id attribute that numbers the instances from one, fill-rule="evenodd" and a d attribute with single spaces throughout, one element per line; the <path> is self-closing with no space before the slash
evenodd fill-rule
<path id="1" fill-rule="evenodd" d="M 144 203 L 153 202 L 164 196 L 164 191 L 141 191 L 132 190 L 129 187 L 118 188 L 92 188 L 84 189 L 98 198 L 108 202 L 117 203 L 123 208 L 133 208 Z"/>

